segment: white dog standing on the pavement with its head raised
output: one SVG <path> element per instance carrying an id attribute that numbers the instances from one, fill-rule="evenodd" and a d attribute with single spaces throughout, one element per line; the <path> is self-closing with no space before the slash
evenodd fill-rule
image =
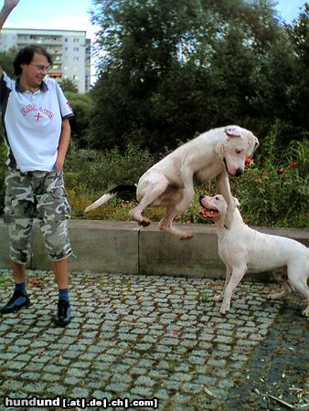
<path id="1" fill-rule="evenodd" d="M 235 205 L 240 203 L 234 198 Z M 240 280 L 247 271 L 252 273 L 287 268 L 287 280 L 283 279 L 283 290 L 272 294 L 277 300 L 297 290 L 307 300 L 303 311 L 309 316 L 309 249 L 303 244 L 286 237 L 262 234 L 244 224 L 238 208 L 234 210 L 231 227 L 224 227 L 227 203 L 222 195 L 200 196 L 203 209 L 200 214 L 214 220 L 218 234 L 218 254 L 227 268 L 227 277 L 222 294 L 215 300 L 222 300 L 220 312 L 229 311 L 230 300 Z"/>

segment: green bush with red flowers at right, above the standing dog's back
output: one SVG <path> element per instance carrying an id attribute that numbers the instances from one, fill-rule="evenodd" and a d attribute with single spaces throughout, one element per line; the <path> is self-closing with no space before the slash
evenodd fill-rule
<path id="1" fill-rule="evenodd" d="M 264 167 L 253 165 L 240 179 L 232 179 L 241 213 L 256 226 L 308 226 L 308 142 L 293 141 Z"/>

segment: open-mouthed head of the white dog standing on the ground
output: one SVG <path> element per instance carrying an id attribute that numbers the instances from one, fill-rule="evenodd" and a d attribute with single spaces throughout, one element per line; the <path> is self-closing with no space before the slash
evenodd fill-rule
<path id="1" fill-rule="evenodd" d="M 240 206 L 239 200 L 235 197 L 234 202 L 237 207 Z M 200 195 L 199 204 L 202 206 L 199 211 L 201 216 L 213 219 L 216 224 L 224 224 L 228 212 L 228 204 L 223 195 L 214 195 L 213 197 Z"/>

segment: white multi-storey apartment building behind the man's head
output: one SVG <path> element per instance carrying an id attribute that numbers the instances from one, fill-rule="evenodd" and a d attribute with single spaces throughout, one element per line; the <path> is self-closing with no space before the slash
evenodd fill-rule
<path id="1" fill-rule="evenodd" d="M 91 40 L 85 31 L 3 28 L 0 50 L 37 43 L 48 50 L 53 60 L 48 76 L 71 79 L 81 93 L 91 86 Z"/>

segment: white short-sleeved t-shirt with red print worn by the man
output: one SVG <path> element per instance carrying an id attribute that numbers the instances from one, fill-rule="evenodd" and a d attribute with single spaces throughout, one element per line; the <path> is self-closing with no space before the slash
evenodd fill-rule
<path id="1" fill-rule="evenodd" d="M 62 120 L 73 116 L 57 82 L 45 79 L 40 90 L 22 90 L 5 73 L 0 79 L 8 163 L 21 172 L 51 171 L 57 160 Z"/>

